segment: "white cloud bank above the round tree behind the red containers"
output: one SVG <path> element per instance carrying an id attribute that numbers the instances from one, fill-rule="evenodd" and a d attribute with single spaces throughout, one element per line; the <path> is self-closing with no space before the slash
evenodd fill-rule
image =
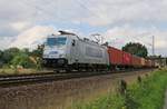
<path id="1" fill-rule="evenodd" d="M 107 30 L 102 36 L 110 46 L 121 48 L 127 42 L 140 42 L 145 44 L 151 54 L 153 36 L 155 36 L 155 49 L 157 54 L 167 56 L 167 31 L 151 28 L 134 28 L 130 26 L 115 27 Z"/>

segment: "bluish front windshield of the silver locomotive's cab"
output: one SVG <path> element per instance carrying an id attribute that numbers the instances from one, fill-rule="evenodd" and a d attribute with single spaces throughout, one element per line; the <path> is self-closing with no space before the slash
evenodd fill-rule
<path id="1" fill-rule="evenodd" d="M 48 38 L 47 39 L 47 46 L 63 46 L 66 44 L 66 37 L 59 37 L 59 38 Z"/>

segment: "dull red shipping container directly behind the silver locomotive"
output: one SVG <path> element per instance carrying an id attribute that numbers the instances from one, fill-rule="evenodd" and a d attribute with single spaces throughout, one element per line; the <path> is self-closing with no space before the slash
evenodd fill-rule
<path id="1" fill-rule="evenodd" d="M 122 51 L 114 47 L 108 47 L 109 62 L 115 66 L 122 65 Z"/>

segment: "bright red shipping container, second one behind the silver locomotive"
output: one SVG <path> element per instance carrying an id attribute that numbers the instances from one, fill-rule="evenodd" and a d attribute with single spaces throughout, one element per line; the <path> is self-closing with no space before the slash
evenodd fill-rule
<path id="1" fill-rule="evenodd" d="M 125 51 L 122 51 L 122 52 L 124 52 L 124 54 L 122 54 L 122 65 L 124 66 L 131 66 L 132 56 L 128 52 L 125 52 Z"/>

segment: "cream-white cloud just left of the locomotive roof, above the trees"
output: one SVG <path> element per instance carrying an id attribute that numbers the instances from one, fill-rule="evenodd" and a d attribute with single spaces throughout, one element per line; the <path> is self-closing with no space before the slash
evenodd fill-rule
<path id="1" fill-rule="evenodd" d="M 48 34 L 55 33 L 53 27 L 36 26 L 30 28 L 12 39 L 9 47 L 36 48 L 43 43 Z"/>

